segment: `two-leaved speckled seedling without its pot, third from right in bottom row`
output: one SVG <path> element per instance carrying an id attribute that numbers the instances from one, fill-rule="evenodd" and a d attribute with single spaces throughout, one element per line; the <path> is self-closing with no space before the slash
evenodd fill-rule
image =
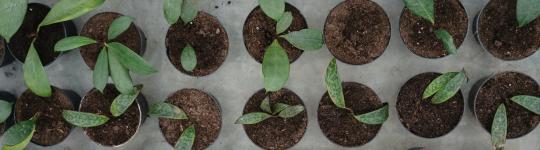
<path id="1" fill-rule="evenodd" d="M 350 114 L 359 122 L 365 124 L 378 125 L 383 124 L 388 119 L 388 103 L 384 103 L 384 106 L 360 115 L 355 115 L 354 111 L 350 108 L 347 108 L 345 105 L 345 96 L 343 95 L 343 87 L 341 85 L 341 77 L 339 76 L 339 71 L 336 63 L 336 59 L 333 58 L 326 69 L 325 76 L 326 88 L 328 89 L 328 95 L 334 103 L 334 105 L 341 109 L 346 109 Z"/>

